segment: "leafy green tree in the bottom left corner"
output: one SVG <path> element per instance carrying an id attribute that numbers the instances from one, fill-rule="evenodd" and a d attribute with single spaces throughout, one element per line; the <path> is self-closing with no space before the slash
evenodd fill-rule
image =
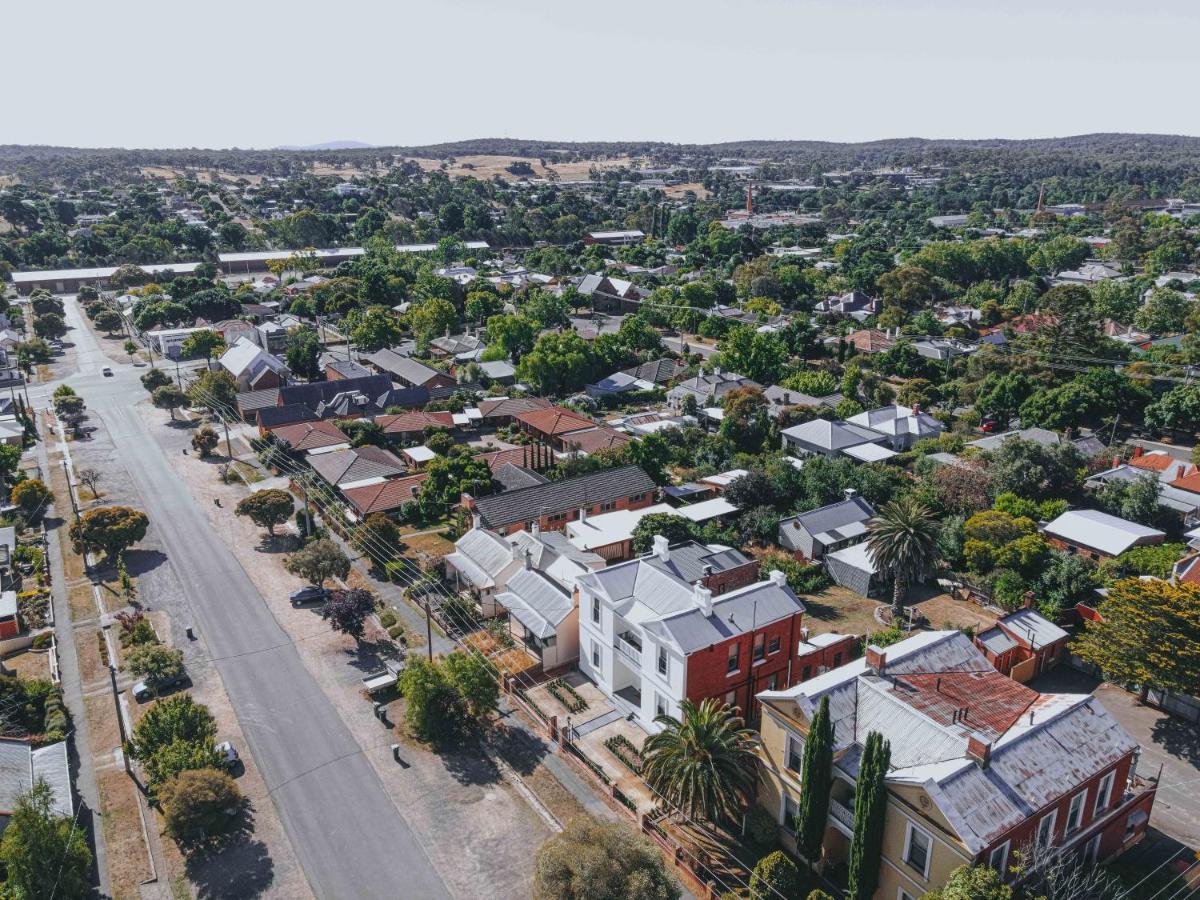
<path id="1" fill-rule="evenodd" d="M 5 890 L 12 898 L 82 900 L 91 894 L 88 836 L 54 804 L 54 791 L 42 779 L 17 798 L 0 840 Z"/>

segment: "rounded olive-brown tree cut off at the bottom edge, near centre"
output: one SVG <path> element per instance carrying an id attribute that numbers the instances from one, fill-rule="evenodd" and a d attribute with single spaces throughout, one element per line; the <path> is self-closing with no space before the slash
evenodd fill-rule
<path id="1" fill-rule="evenodd" d="M 580 816 L 547 840 L 534 863 L 534 900 L 678 900 L 662 854 L 620 822 Z"/>

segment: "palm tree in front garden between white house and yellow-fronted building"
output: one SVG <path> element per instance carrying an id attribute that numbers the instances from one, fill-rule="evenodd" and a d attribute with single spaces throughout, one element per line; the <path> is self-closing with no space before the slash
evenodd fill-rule
<path id="1" fill-rule="evenodd" d="M 755 787 L 755 733 L 737 710 L 715 700 L 683 702 L 683 719 L 660 715 L 646 739 L 642 778 L 690 818 L 733 818 Z"/>

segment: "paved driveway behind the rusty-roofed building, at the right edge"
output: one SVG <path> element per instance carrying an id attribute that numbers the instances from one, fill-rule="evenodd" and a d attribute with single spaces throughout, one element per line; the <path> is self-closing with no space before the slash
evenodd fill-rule
<path id="1" fill-rule="evenodd" d="M 1151 826 L 1188 847 L 1200 847 L 1200 725 L 1138 706 L 1136 696 L 1129 691 L 1099 683 L 1068 666 L 1038 677 L 1030 686 L 1094 695 L 1141 744 L 1138 770 L 1153 775 L 1162 767 Z"/>

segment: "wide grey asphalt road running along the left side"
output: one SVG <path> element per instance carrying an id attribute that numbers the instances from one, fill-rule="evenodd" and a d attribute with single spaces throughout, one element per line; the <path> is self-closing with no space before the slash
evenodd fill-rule
<path id="1" fill-rule="evenodd" d="M 221 673 L 313 893 L 449 896 L 358 742 L 133 409 L 145 397 L 137 378 L 145 370 L 110 362 L 74 301 L 66 307 L 79 371 L 65 380 L 103 420 L 138 479 L 151 528 L 184 583 L 191 624 Z M 112 378 L 101 374 L 104 366 Z"/>

